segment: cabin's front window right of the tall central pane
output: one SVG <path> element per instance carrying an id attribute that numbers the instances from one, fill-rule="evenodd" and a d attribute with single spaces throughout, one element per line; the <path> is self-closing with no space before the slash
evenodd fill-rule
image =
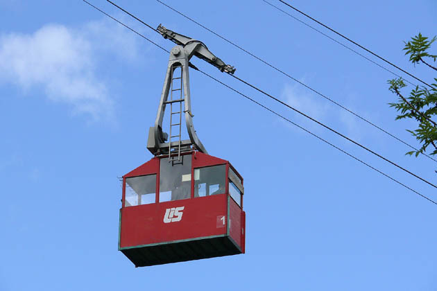
<path id="1" fill-rule="evenodd" d="M 194 197 L 226 192 L 226 165 L 194 169 Z"/>

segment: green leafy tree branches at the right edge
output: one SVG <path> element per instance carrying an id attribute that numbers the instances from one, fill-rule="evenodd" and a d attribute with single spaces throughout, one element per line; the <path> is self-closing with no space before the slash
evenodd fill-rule
<path id="1" fill-rule="evenodd" d="M 429 60 L 436 62 L 437 55 L 428 53 L 431 44 L 436 41 L 436 37 L 428 40 L 428 37 L 423 37 L 420 33 L 411 38 L 411 41 L 405 42 L 405 55 L 409 55 L 410 62 L 413 64 L 425 64 L 430 69 L 437 71 Z M 397 103 L 388 103 L 394 107 L 399 115 L 396 120 L 403 118 L 412 118 L 418 122 L 418 128 L 415 130 L 407 130 L 420 142 L 421 148 L 406 152 L 406 155 L 415 155 L 424 153 L 430 146 L 430 155 L 437 155 L 437 78 L 434 78 L 435 83 L 431 87 L 416 86 L 409 94 L 409 97 L 402 95 L 402 88 L 406 84 L 402 78 L 388 80 L 391 92 L 397 95 Z"/>

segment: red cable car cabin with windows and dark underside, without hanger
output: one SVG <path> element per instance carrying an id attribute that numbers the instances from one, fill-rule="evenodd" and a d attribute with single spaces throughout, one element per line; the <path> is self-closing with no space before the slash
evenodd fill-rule
<path id="1" fill-rule="evenodd" d="M 136 267 L 242 254 L 243 192 L 229 161 L 154 157 L 123 176 L 119 250 Z"/>

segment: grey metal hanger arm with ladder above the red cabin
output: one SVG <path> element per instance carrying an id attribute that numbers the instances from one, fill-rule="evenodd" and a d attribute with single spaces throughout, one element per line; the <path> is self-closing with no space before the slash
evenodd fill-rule
<path id="1" fill-rule="evenodd" d="M 193 149 L 207 154 L 207 150 L 198 138 L 196 130 L 194 130 L 192 120 L 194 115 L 191 113 L 188 67 L 196 70 L 197 68 L 189 60 L 195 55 L 197 58 L 212 64 L 220 71 L 230 74 L 235 72 L 235 68 L 217 58 L 203 42 L 175 33 L 161 24 L 157 27 L 157 31 L 162 37 L 170 39 L 176 45 L 170 52 L 169 65 L 164 79 L 164 86 L 162 87 L 155 126 L 150 127 L 148 132 L 147 149 L 155 156 L 169 155 L 169 161 L 180 161 L 181 152 Z M 178 70 L 179 68 L 180 70 Z M 183 110 L 182 102 L 185 105 Z M 170 105 L 171 110 L 169 134 L 162 130 L 162 121 L 167 105 Z M 173 107 L 175 107 L 175 112 L 173 112 Z M 185 114 L 185 124 L 187 125 L 189 135 L 187 140 L 181 140 L 182 113 Z"/>

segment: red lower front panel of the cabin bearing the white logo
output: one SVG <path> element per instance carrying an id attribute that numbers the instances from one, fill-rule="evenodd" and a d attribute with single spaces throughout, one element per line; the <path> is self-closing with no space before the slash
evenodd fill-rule
<path id="1" fill-rule="evenodd" d="M 120 247 L 225 234 L 226 227 L 217 221 L 222 216 L 226 221 L 226 198 L 222 194 L 123 208 Z"/>

